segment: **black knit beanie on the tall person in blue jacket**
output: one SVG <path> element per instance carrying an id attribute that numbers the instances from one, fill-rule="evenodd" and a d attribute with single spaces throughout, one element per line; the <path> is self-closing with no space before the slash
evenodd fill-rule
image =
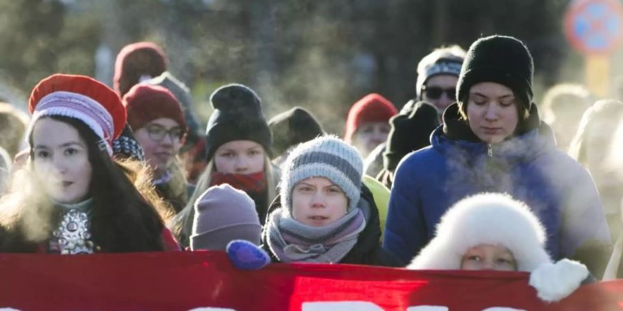
<path id="1" fill-rule="evenodd" d="M 512 89 L 530 110 L 533 72 L 532 55 L 518 39 L 499 35 L 480 38 L 467 51 L 457 82 L 456 98 L 466 100 L 474 84 L 496 82 Z"/>

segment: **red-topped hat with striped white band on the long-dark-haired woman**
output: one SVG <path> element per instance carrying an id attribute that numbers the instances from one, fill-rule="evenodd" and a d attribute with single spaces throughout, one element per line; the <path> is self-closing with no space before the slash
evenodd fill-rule
<path id="1" fill-rule="evenodd" d="M 110 155 L 112 142 L 123 131 L 126 120 L 119 96 L 102 82 L 84 75 L 56 74 L 46 77 L 30 93 L 28 111 L 33 118 L 26 137 L 30 136 L 40 117 L 73 117 L 87 124 L 106 142 Z"/>

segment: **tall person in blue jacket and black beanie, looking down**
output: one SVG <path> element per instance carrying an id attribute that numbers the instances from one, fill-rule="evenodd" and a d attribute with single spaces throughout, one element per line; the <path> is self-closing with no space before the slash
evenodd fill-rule
<path id="1" fill-rule="evenodd" d="M 588 171 L 559 151 L 532 102 L 532 55 L 513 37 L 475 41 L 431 146 L 399 164 L 383 247 L 410 260 L 455 202 L 483 191 L 525 202 L 548 233 L 552 259 L 573 258 L 602 275 L 610 233 Z"/>

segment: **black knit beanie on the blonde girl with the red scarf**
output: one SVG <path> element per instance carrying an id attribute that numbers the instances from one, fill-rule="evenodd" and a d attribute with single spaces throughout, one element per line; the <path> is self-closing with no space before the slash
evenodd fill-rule
<path id="1" fill-rule="evenodd" d="M 212 160 L 218 147 L 233 140 L 251 140 L 271 156 L 272 136 L 260 97 L 242 84 L 217 88 L 210 96 L 214 112 L 206 129 L 206 158 Z"/>

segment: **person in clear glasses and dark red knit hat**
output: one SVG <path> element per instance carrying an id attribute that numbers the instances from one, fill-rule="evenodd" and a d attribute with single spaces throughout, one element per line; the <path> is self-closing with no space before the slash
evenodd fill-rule
<path id="1" fill-rule="evenodd" d="M 186 135 L 183 111 L 162 86 L 136 84 L 123 96 L 127 122 L 153 170 L 152 184 L 175 213 L 188 202 L 193 187 L 184 178 L 177 153 Z"/>

